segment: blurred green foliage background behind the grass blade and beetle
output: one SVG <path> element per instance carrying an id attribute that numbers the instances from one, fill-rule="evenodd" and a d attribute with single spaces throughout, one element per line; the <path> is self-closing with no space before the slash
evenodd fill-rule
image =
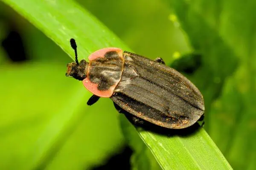
<path id="1" fill-rule="evenodd" d="M 78 3 L 137 54 L 162 57 L 189 77 L 204 96 L 209 136 L 234 169 L 256 169 L 256 1 Z M 86 107 L 86 89 L 65 77 L 72 59 L 1 1 L 0 42 L 0 169 L 26 169 L 37 152 L 38 169 L 130 164 L 131 141 L 141 141 L 123 136 L 111 100 Z M 133 154 L 132 168 L 159 168 L 146 155 L 147 166 Z"/>

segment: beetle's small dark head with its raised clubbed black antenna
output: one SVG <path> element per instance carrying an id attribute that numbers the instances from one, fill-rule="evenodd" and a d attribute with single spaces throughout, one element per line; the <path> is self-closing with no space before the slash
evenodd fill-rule
<path id="1" fill-rule="evenodd" d="M 67 77 L 74 77 L 78 80 L 83 80 L 86 78 L 87 75 L 87 68 L 88 68 L 88 62 L 86 62 L 84 59 L 81 60 L 81 62 L 78 62 L 77 59 L 77 51 L 76 51 L 76 41 L 72 38 L 70 39 L 70 45 L 75 51 L 76 55 L 76 62 L 71 62 L 67 64 Z"/>

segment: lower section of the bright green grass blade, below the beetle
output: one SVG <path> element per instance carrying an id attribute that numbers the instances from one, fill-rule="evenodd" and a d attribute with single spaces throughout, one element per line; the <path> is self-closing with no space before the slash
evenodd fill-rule
<path id="1" fill-rule="evenodd" d="M 204 129 L 189 136 L 161 136 L 140 132 L 163 169 L 232 169 Z"/>

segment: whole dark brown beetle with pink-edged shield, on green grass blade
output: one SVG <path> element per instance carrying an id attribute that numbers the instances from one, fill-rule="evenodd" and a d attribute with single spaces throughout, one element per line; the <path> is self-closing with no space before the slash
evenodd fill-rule
<path id="1" fill-rule="evenodd" d="M 67 64 L 67 77 L 83 82 L 93 96 L 109 97 L 119 113 L 136 122 L 150 122 L 169 129 L 189 127 L 204 116 L 204 99 L 186 77 L 165 65 L 163 59 L 151 60 L 122 51 L 102 48 L 79 63 L 74 39 L 70 45 L 76 62 Z M 127 115 L 129 114 L 129 115 Z"/>

